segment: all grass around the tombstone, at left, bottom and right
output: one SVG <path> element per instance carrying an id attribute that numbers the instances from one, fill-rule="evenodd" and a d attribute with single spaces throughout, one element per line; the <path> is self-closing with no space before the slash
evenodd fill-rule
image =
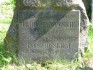
<path id="1" fill-rule="evenodd" d="M 91 70 L 84 65 L 88 59 L 93 59 L 93 25 L 89 25 L 88 41 L 89 48 L 84 55 L 83 60 L 54 61 L 45 63 L 16 64 L 16 57 L 5 50 L 4 38 L 13 17 L 14 0 L 6 0 L 0 4 L 0 70 Z"/>

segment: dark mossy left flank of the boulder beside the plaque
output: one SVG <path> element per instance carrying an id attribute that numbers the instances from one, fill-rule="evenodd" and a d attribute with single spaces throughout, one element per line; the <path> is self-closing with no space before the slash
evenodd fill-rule
<path id="1" fill-rule="evenodd" d="M 4 39 L 6 50 L 17 53 L 18 47 L 18 17 L 17 11 L 14 12 L 14 17 L 12 20 L 12 24 L 6 34 Z"/>

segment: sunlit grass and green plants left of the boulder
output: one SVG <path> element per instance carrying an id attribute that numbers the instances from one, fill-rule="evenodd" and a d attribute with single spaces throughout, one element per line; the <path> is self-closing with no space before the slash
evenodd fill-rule
<path id="1" fill-rule="evenodd" d="M 0 67 L 12 62 L 13 55 L 5 51 L 4 38 L 13 17 L 13 0 L 6 0 L 0 4 Z"/>

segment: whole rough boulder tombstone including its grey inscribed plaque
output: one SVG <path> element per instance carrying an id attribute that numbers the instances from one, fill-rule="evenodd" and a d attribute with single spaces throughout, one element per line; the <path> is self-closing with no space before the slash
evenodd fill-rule
<path id="1" fill-rule="evenodd" d="M 87 46 L 84 22 L 88 20 L 80 5 L 71 0 L 16 2 L 5 38 L 9 51 L 26 62 L 78 58 L 79 51 Z"/>

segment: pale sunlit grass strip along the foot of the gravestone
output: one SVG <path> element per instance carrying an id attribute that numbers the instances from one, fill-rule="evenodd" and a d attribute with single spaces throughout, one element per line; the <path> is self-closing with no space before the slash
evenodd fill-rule
<path id="1" fill-rule="evenodd" d="M 83 68 L 83 67 L 82 67 Z M 67 61 L 55 61 L 52 63 L 32 63 L 32 64 L 21 64 L 17 66 L 15 64 L 4 65 L 1 69 L 7 70 L 80 70 L 81 67 L 78 62 L 67 62 Z"/>

